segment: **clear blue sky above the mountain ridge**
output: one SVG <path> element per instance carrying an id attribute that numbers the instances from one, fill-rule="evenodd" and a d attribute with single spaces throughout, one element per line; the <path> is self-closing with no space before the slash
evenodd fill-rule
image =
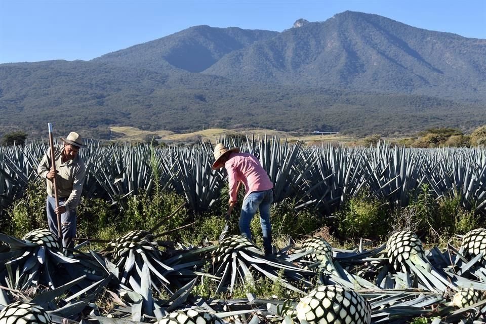
<path id="1" fill-rule="evenodd" d="M 90 60 L 195 25 L 282 31 L 346 10 L 486 38 L 486 0 L 0 0 L 0 63 Z"/>

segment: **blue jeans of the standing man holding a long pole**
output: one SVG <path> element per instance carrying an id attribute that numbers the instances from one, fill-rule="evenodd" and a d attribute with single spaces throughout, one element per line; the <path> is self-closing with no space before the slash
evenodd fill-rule
<path id="1" fill-rule="evenodd" d="M 67 198 L 59 198 L 59 206 L 64 205 Z M 46 199 L 46 211 L 47 222 L 49 223 L 49 229 L 51 233 L 59 240 L 57 231 L 57 214 L 54 212 L 56 209 L 56 199 L 51 196 L 47 196 Z M 64 248 L 73 248 L 73 238 L 76 236 L 76 210 L 66 211 L 61 214 L 61 235 L 62 246 Z"/>

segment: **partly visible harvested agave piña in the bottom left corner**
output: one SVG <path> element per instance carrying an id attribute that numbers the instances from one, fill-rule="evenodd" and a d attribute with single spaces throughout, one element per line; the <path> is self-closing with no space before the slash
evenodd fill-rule
<path id="1" fill-rule="evenodd" d="M 18 301 L 0 312 L 0 324 L 52 323 L 49 314 L 39 305 Z"/>

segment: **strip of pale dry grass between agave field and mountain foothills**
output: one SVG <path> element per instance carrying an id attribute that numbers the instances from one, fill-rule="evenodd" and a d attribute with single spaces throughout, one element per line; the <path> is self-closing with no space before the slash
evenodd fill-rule
<path id="1" fill-rule="evenodd" d="M 111 131 L 118 136 L 117 141 L 127 142 L 144 142 L 154 137 L 166 142 L 175 143 L 195 143 L 199 139 L 204 141 L 216 142 L 220 136 L 236 136 L 247 135 L 249 137 L 254 136 L 255 139 L 262 136 L 274 136 L 277 135 L 281 139 L 287 138 L 289 142 L 303 141 L 308 145 L 317 145 L 320 143 L 353 143 L 356 139 L 351 137 L 344 137 L 339 135 L 311 135 L 311 134 L 294 134 L 287 132 L 280 132 L 268 129 L 234 129 L 226 130 L 221 128 L 207 129 L 192 133 L 177 134 L 171 131 L 142 131 L 134 127 L 112 127 Z"/>

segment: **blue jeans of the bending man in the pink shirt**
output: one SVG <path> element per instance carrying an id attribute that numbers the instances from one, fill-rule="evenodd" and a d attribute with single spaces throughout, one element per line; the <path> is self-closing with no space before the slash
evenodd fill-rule
<path id="1" fill-rule="evenodd" d="M 239 217 L 239 231 L 241 235 L 252 240 L 250 223 L 257 209 L 260 209 L 260 225 L 262 226 L 263 251 L 265 255 L 272 254 L 272 225 L 270 224 L 270 205 L 272 202 L 273 189 L 253 191 L 243 200 Z"/>

